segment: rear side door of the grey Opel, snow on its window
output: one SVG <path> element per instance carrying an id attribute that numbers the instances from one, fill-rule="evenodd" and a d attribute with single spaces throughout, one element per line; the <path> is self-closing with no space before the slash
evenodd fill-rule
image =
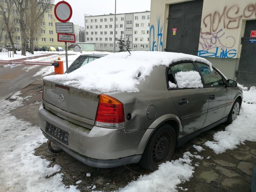
<path id="1" fill-rule="evenodd" d="M 195 72 L 199 76 L 199 80 L 194 79 Z M 183 85 L 179 87 L 178 74 L 180 72 L 188 72 L 188 76 L 184 76 Z M 190 77 L 189 77 L 190 76 Z M 182 81 L 182 80 L 181 80 Z M 208 92 L 205 88 L 198 86 L 189 86 L 193 81 L 199 81 L 200 87 L 203 87 L 199 72 L 192 62 L 180 62 L 170 66 L 168 69 L 169 92 L 172 100 L 180 116 L 183 126 L 183 136 L 200 130 L 206 120 L 208 110 Z M 184 86 L 184 84 L 187 84 Z M 196 83 L 197 85 L 197 83 Z"/>

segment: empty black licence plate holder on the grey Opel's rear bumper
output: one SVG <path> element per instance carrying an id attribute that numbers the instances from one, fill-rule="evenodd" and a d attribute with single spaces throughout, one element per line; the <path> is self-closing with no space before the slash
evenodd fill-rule
<path id="1" fill-rule="evenodd" d="M 68 132 L 46 122 L 46 132 L 68 145 Z"/>

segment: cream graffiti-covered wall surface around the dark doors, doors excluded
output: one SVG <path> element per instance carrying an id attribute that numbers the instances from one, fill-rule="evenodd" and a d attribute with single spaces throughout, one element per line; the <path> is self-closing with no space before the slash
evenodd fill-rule
<path id="1" fill-rule="evenodd" d="M 151 0 L 151 51 L 164 51 L 169 5 L 188 0 Z M 227 78 L 236 79 L 246 20 L 256 18 L 255 0 L 204 0 L 198 56 L 205 57 Z"/>

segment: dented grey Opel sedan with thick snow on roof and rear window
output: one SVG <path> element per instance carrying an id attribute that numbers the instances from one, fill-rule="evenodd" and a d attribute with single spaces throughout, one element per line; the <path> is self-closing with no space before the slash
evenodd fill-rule
<path id="1" fill-rule="evenodd" d="M 242 99 L 237 83 L 204 58 L 120 52 L 44 77 L 38 121 L 48 144 L 85 164 L 139 162 L 154 171 L 176 147 L 231 123 Z"/>

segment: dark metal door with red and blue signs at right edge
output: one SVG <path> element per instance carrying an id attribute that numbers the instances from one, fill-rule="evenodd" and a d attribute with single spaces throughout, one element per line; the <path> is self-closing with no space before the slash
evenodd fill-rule
<path id="1" fill-rule="evenodd" d="M 242 51 L 236 71 L 237 82 L 250 88 L 256 86 L 256 20 L 246 21 Z"/>

